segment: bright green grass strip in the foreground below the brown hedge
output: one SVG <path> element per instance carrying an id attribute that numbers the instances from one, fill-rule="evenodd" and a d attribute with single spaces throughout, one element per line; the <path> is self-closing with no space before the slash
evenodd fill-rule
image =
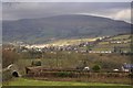
<path id="1" fill-rule="evenodd" d="M 25 78 L 16 78 L 11 81 L 3 82 L 3 86 L 126 86 L 119 84 L 101 84 L 101 82 L 79 82 L 79 81 L 45 81 Z"/>

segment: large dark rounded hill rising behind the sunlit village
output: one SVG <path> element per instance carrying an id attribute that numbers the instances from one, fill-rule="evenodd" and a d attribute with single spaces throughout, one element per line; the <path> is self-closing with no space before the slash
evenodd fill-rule
<path id="1" fill-rule="evenodd" d="M 59 38 L 93 37 L 129 33 L 130 24 L 108 18 L 69 14 L 42 19 L 3 21 L 3 42 L 45 43 Z"/>

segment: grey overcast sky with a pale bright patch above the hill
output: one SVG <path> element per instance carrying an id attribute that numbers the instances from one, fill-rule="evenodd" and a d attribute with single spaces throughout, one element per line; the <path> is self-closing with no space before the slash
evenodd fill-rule
<path id="1" fill-rule="evenodd" d="M 130 22 L 131 3 L 130 2 L 3 2 L 2 3 L 3 20 L 48 18 L 48 16 L 62 15 L 62 14 L 85 14 L 85 15 L 91 14 L 91 15 L 105 16 L 105 18 Z"/>

